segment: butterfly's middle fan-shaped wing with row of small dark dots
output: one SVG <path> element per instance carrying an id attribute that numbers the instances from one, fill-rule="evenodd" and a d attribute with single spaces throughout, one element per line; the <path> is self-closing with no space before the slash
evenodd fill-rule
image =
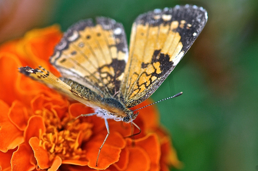
<path id="1" fill-rule="evenodd" d="M 102 97 L 117 95 L 128 59 L 123 25 L 113 19 L 82 20 L 71 26 L 55 47 L 50 62 L 62 76 Z"/>

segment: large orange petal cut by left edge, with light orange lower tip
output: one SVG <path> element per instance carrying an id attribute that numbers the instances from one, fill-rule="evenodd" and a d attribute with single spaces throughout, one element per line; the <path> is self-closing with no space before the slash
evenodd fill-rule
<path id="1" fill-rule="evenodd" d="M 9 106 L 1 99 L 0 111 L 0 150 L 7 152 L 7 150 L 14 149 L 24 142 L 23 132 L 10 122 L 7 116 L 11 110 L 9 110 Z"/>

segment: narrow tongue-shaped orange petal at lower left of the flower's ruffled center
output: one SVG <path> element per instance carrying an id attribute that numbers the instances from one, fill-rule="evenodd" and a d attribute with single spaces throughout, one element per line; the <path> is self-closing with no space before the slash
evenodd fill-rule
<path id="1" fill-rule="evenodd" d="M 48 152 L 43 147 L 39 146 L 38 137 L 31 137 L 29 139 L 29 144 L 34 152 L 38 167 L 41 169 L 49 168 L 51 163 L 49 161 Z"/>

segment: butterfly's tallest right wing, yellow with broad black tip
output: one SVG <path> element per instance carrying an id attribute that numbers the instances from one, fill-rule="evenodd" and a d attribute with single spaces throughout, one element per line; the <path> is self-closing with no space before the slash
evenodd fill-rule
<path id="1" fill-rule="evenodd" d="M 146 100 L 167 78 L 207 22 L 197 6 L 156 9 L 133 23 L 125 79 L 120 91 L 126 107 Z"/>

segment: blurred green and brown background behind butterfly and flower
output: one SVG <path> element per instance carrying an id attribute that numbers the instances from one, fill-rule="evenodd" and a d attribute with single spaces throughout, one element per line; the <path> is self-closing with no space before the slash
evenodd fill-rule
<path id="1" fill-rule="evenodd" d="M 0 42 L 32 28 L 108 16 L 123 23 L 155 8 L 195 4 L 208 22 L 172 74 L 151 96 L 173 137 L 182 170 L 258 170 L 258 1 L 0 1 Z M 128 40 L 129 41 L 129 40 Z M 174 170 L 174 169 L 172 169 Z"/>

